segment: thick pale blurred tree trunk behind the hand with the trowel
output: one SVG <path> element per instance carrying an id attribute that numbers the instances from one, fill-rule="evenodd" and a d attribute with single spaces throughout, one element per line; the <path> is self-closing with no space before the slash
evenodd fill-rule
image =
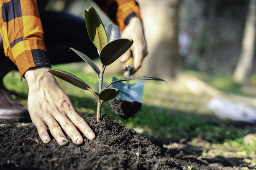
<path id="1" fill-rule="evenodd" d="M 138 0 L 148 45 L 140 75 L 173 78 L 180 71 L 179 5 L 181 0 Z"/>

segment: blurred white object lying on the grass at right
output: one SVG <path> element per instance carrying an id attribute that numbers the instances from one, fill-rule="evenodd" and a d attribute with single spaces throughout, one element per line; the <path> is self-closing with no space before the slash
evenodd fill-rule
<path id="1" fill-rule="evenodd" d="M 248 105 L 236 104 L 218 97 L 213 97 L 206 105 L 206 108 L 212 110 L 215 115 L 220 117 L 227 117 L 232 120 L 250 123 L 256 121 L 256 108 Z"/>

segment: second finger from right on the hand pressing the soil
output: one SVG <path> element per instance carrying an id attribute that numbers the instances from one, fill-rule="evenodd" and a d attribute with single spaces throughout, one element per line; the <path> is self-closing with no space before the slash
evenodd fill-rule
<path id="1" fill-rule="evenodd" d="M 77 114 L 74 112 L 73 114 Z M 59 115 L 55 117 L 56 120 L 61 125 L 61 128 L 67 133 L 69 138 L 73 141 L 73 143 L 77 145 L 81 145 L 83 143 L 83 138 L 78 132 L 75 125 L 69 120 L 69 118 L 66 115 Z"/>

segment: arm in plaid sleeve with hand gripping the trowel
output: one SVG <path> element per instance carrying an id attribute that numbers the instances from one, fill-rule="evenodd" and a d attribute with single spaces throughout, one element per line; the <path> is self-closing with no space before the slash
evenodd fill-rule
<path id="1" fill-rule="evenodd" d="M 95 0 L 95 2 L 118 25 L 122 32 L 121 37 L 133 40 L 133 45 L 120 61 L 125 69 L 124 63 L 131 57 L 132 52 L 134 60 L 131 74 L 134 74 L 148 54 L 138 3 L 135 0 Z"/>

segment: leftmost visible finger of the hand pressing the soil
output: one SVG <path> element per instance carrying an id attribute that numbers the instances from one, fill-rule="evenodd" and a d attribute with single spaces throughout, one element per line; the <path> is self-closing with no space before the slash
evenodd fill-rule
<path id="1" fill-rule="evenodd" d="M 50 143 L 51 138 L 49 137 L 49 134 L 47 132 L 47 127 L 46 127 L 44 121 L 40 117 L 37 117 L 36 119 L 33 119 L 33 123 L 37 128 L 37 131 L 38 131 L 38 134 L 39 134 L 41 140 L 44 143 Z"/>

